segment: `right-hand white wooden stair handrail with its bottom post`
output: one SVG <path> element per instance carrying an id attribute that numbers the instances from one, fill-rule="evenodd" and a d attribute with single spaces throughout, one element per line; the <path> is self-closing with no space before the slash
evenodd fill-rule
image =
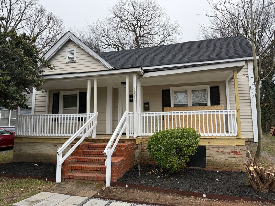
<path id="1" fill-rule="evenodd" d="M 126 125 L 129 124 L 129 122 L 125 121 L 127 112 L 124 112 L 122 118 L 120 119 L 117 128 L 115 129 L 114 133 L 112 134 L 111 139 L 109 140 L 105 150 L 103 151 L 104 155 L 107 157 L 105 161 L 106 166 L 106 187 L 109 187 L 111 185 L 111 162 L 112 162 L 112 154 L 114 150 L 116 149 L 117 143 L 119 142 L 119 139 L 123 133 L 123 130 L 125 129 Z M 123 122 L 125 123 L 123 124 Z M 122 128 L 121 128 L 122 127 Z M 121 128 L 120 132 L 119 129 Z M 117 133 L 119 132 L 119 135 L 117 136 Z M 117 136 L 117 139 L 112 147 L 112 144 Z"/>

